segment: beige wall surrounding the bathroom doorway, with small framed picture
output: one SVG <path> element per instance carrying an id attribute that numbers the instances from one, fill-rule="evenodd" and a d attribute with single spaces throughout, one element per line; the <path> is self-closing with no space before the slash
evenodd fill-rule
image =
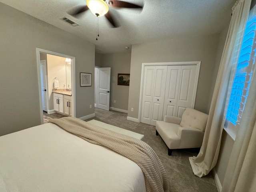
<path id="1" fill-rule="evenodd" d="M 76 58 L 76 117 L 93 114 L 94 75 L 80 87 L 79 72 L 94 74 L 94 44 L 2 3 L 0 18 L 0 135 L 41 122 L 36 48 Z"/>

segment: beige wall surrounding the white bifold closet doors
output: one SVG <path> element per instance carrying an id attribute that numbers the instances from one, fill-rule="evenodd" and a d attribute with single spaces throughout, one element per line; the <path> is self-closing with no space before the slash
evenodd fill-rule
<path id="1" fill-rule="evenodd" d="M 128 116 L 138 118 L 142 63 L 201 61 L 195 109 L 208 113 L 219 35 L 176 38 L 132 46 Z M 131 112 L 131 108 L 134 111 Z"/>

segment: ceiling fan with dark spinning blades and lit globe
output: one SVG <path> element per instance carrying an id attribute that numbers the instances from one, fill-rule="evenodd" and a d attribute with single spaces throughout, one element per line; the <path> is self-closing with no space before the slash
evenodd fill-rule
<path id="1" fill-rule="evenodd" d="M 105 16 L 107 20 L 110 22 L 112 27 L 114 28 L 119 27 L 118 23 L 112 17 L 112 14 L 110 14 L 108 7 L 142 9 L 143 5 L 141 6 L 141 5 L 132 4 L 132 3 L 128 3 L 120 0 L 86 0 L 86 5 L 76 7 L 72 11 L 70 11 L 68 14 L 76 17 L 76 16 L 79 16 L 81 13 L 90 9 L 90 11 L 97 17 Z"/>

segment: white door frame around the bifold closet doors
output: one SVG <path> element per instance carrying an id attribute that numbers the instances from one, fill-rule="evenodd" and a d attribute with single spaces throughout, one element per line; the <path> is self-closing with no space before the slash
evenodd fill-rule
<path id="1" fill-rule="evenodd" d="M 144 80 L 144 68 L 145 66 L 157 66 L 157 65 L 196 65 L 196 87 L 194 88 L 196 91 L 193 95 L 193 107 L 196 100 L 196 92 L 197 92 L 197 84 L 199 79 L 199 72 L 201 61 L 183 61 L 183 62 L 157 62 L 157 63 L 142 63 L 141 66 L 141 78 L 140 78 L 140 100 L 139 100 L 139 112 L 138 112 L 138 122 L 140 122 L 141 118 L 141 108 L 142 108 L 142 91 L 143 91 L 143 80 Z"/>

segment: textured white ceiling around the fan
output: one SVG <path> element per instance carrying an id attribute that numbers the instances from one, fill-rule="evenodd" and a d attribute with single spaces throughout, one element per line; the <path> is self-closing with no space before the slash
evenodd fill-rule
<path id="1" fill-rule="evenodd" d="M 178 36 L 200 36 L 219 33 L 230 20 L 236 0 L 124 0 L 144 4 L 142 11 L 112 8 L 112 16 L 120 24 L 111 28 L 104 17 L 99 18 L 100 37 L 96 41 L 96 16 L 89 10 L 80 18 L 67 12 L 86 0 L 0 0 L 44 22 L 75 34 L 96 45 L 98 53 L 122 52 L 125 47 Z M 73 27 L 60 20 L 67 17 L 80 26 Z"/>

